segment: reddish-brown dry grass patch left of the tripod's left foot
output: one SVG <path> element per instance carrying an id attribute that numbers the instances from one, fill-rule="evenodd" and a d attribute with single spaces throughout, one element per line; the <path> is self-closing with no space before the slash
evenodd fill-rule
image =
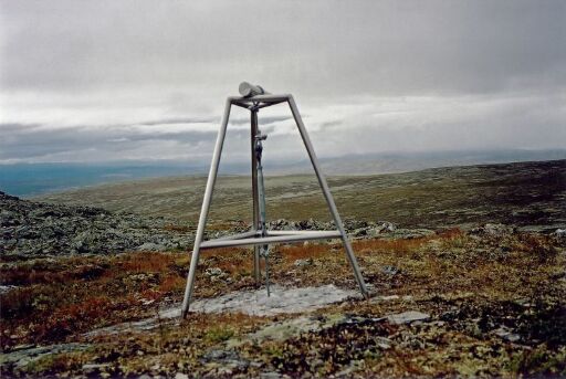
<path id="1" fill-rule="evenodd" d="M 34 260 L 2 269 L 3 283 L 21 286 L 0 298 L 2 347 L 61 340 L 93 326 L 148 315 L 142 299 L 180 291 L 178 261 L 179 254 L 132 253 Z"/>

